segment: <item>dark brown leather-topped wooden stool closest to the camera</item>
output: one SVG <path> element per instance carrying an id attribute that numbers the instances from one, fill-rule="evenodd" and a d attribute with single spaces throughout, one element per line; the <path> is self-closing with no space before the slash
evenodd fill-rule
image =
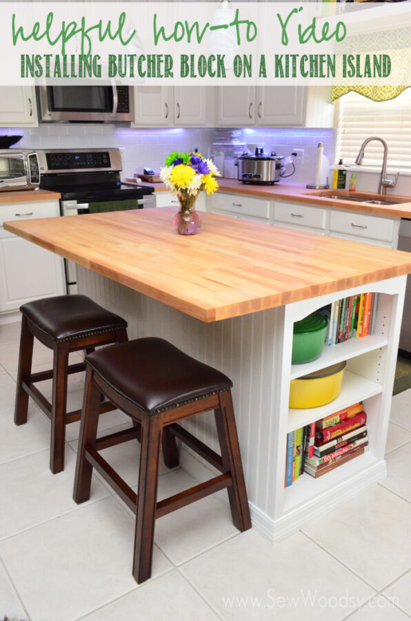
<path id="1" fill-rule="evenodd" d="M 86 366 L 74 500 L 81 503 L 89 499 L 94 467 L 136 513 L 132 573 L 137 582 L 151 575 L 157 517 L 227 488 L 234 525 L 239 531 L 251 528 L 232 407 L 232 382 L 226 375 L 154 337 L 96 351 L 86 357 Z M 97 439 L 101 393 L 132 418 L 134 427 Z M 178 424 L 212 409 L 221 455 Z M 138 495 L 99 454 L 108 446 L 135 437 L 141 441 Z M 177 466 L 176 438 L 221 474 L 157 502 L 161 444 L 166 465 Z"/>

